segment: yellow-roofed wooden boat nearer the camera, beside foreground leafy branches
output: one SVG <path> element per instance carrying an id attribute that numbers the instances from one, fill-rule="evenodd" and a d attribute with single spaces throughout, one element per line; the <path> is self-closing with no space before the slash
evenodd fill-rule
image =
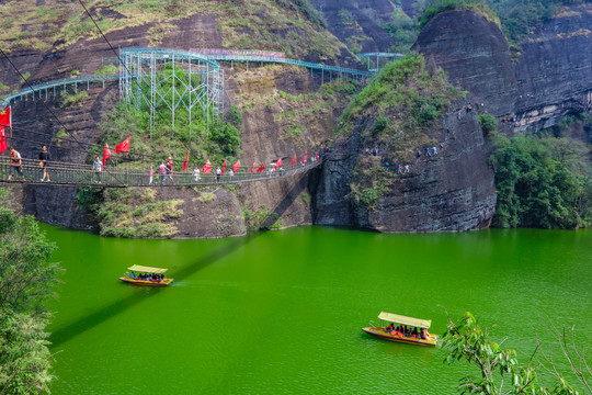
<path id="1" fill-rule="evenodd" d="M 384 326 L 367 327 L 367 328 L 362 328 L 362 330 L 365 331 L 366 334 L 371 334 L 373 336 L 379 337 L 380 339 L 390 340 L 390 341 L 399 341 L 399 342 L 405 342 L 405 343 L 410 343 L 410 345 L 431 346 L 431 347 L 434 347 L 436 345 L 437 336 L 428 332 L 428 329 L 432 325 L 431 319 L 419 319 L 419 318 L 406 317 L 406 316 L 391 314 L 391 313 L 385 313 L 385 312 L 380 312 L 380 314 L 378 315 L 378 318 L 380 318 L 380 323 L 384 324 Z M 389 330 L 388 327 L 390 325 L 386 325 L 385 321 L 392 323 L 399 326 L 402 325 L 405 327 L 408 327 L 409 329 L 419 328 L 420 336 L 415 336 L 415 335 L 405 336 L 405 334 L 401 331 Z"/>

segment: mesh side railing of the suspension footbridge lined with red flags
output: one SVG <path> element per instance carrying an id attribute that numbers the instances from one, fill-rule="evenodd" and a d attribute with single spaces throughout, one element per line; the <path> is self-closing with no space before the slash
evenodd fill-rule
<path id="1" fill-rule="evenodd" d="M 12 173 L 14 182 L 26 183 L 49 183 L 49 184 L 80 184 L 94 185 L 101 184 L 104 187 L 183 187 L 183 185 L 210 185 L 210 184 L 236 184 L 264 180 L 276 180 L 289 176 L 306 172 L 318 165 L 318 161 L 308 161 L 304 166 L 297 163 L 294 169 L 284 169 L 270 171 L 265 169 L 262 172 L 250 172 L 250 169 L 241 169 L 234 176 L 229 174 L 227 169 L 225 174 L 216 177 L 215 170 L 208 174 L 203 172 L 200 176 L 194 176 L 192 170 L 173 171 L 172 174 L 159 174 L 158 169 L 155 169 L 152 180 L 148 170 L 123 168 L 123 167 L 105 167 L 103 171 L 95 172 L 92 165 L 89 163 L 71 163 L 50 161 L 45 170 L 47 171 L 50 181 L 43 182 L 44 168 L 39 166 L 39 160 L 21 159 L 21 170 L 24 180 L 16 169 L 11 163 L 10 157 L 0 157 L 0 181 L 9 181 L 9 176 Z"/>

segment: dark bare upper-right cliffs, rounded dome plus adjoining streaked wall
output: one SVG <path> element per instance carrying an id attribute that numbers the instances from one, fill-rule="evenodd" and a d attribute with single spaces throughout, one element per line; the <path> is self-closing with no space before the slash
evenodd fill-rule
<path id="1" fill-rule="evenodd" d="M 413 49 L 433 58 L 474 105 L 499 120 L 515 116 L 508 131 L 538 131 L 591 109 L 590 26 L 592 5 L 566 8 L 520 43 L 512 63 L 496 24 L 470 11 L 451 11 L 425 25 Z"/>

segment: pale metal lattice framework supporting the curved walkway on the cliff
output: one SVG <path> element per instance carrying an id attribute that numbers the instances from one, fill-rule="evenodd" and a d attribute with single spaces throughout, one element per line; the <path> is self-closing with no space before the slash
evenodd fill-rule
<path id="1" fill-rule="evenodd" d="M 201 113 L 209 129 L 224 112 L 224 70 L 207 57 L 195 53 L 163 48 L 121 50 L 119 101 L 150 111 L 150 133 L 160 109 L 175 112 L 184 108 Z M 179 72 L 183 71 L 183 72 Z"/>

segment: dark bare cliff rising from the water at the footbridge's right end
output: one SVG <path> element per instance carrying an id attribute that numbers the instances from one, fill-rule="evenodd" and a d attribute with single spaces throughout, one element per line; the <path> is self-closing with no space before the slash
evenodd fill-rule
<path id="1" fill-rule="evenodd" d="M 410 173 L 397 176 L 389 192 L 368 208 L 351 198 L 360 160 L 367 160 L 360 134 L 335 143 L 316 195 L 315 223 L 378 232 L 468 230 L 489 226 L 496 208 L 493 171 L 474 112 L 451 112 L 428 131 L 437 154 L 415 156 Z M 369 157 L 371 160 L 378 158 Z M 390 171 L 395 172 L 396 167 Z"/>

